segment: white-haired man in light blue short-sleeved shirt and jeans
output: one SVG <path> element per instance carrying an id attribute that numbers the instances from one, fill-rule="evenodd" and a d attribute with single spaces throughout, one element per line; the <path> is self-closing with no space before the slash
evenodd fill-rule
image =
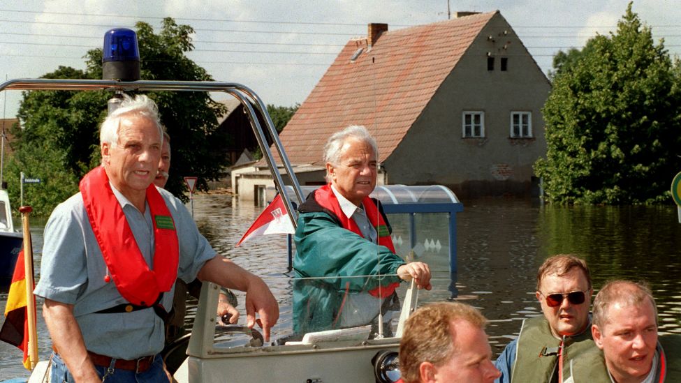
<path id="1" fill-rule="evenodd" d="M 101 126 L 102 165 L 45 225 L 43 316 L 52 382 L 166 382 L 166 308 L 176 278 L 246 292 L 249 326 L 269 338 L 279 307 L 261 278 L 216 255 L 184 204 L 152 184 L 163 130 L 154 101 L 125 96 Z"/>

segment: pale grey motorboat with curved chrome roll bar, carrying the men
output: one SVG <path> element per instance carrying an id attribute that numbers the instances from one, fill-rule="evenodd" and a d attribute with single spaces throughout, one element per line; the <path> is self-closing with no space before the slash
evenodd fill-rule
<path id="1" fill-rule="evenodd" d="M 0 91 L 15 90 L 71 90 L 87 91 L 103 89 L 109 91 L 220 91 L 239 100 L 249 114 L 263 157 L 268 163 L 274 184 L 283 196 L 286 212 L 295 223 L 293 201 L 300 204 L 305 197 L 295 172 L 288 162 L 284 148 L 281 147 L 274 123 L 267 112 L 265 103 L 251 89 L 242 84 L 228 82 L 183 82 L 183 81 L 119 81 L 119 80 L 54 80 L 20 79 L 0 84 Z M 265 128 L 256 114 L 263 118 Z M 289 178 L 290 186 L 284 186 L 281 173 L 268 146 L 265 132 L 274 142 Z M 291 193 L 289 193 L 289 188 Z M 407 195 L 412 202 L 418 203 L 408 188 Z M 385 190 L 384 190 L 385 191 Z M 431 190 L 432 192 L 432 190 Z M 451 193 L 451 191 L 449 192 Z M 388 190 L 391 200 L 395 193 Z M 423 193 L 430 199 L 432 193 Z M 445 193 L 446 194 L 446 193 Z M 453 195 L 453 194 L 452 194 Z M 395 203 L 395 201 L 393 201 Z M 458 204 L 455 197 L 453 204 Z M 460 210 L 459 210 L 460 211 Z M 407 213 L 407 211 L 399 211 Z M 413 222 L 413 215 L 411 221 Z M 455 233 L 454 233 L 455 234 Z M 406 234 L 409 238 L 409 234 Z M 414 234 L 412 237 L 416 237 Z M 455 239 L 455 235 L 453 237 Z M 455 242 L 451 242 L 455 243 Z M 284 255 L 282 255 L 284 256 Z M 382 276 L 360 276 L 362 278 L 381 278 Z M 314 278 L 293 278 L 285 276 L 286 283 L 318 283 Z M 268 280 L 265 279 L 265 282 Z M 295 288 L 291 287 L 293 294 Z M 273 342 L 263 344 L 263 337 L 256 329 L 244 326 L 217 326 L 215 312 L 219 288 L 212 283 L 204 283 L 198 303 L 196 318 L 191 334 L 184 338 L 188 357 L 177 368 L 175 380 L 190 382 L 395 382 L 399 376 L 398 349 L 402 329 L 407 317 L 418 306 L 418 290 L 412 285 L 397 290 L 401 298 L 401 308 L 395 308 L 393 317 L 388 315 L 372 325 L 356 325 L 349 328 L 323 329 L 311 333 L 295 334 L 292 329 L 273 331 Z M 280 306 L 291 305 L 291 299 L 280 302 Z M 378 303 L 377 303 L 378 304 Z M 376 308 L 376 312 L 381 311 Z M 177 350 L 184 352 L 182 342 Z M 31 374 L 29 382 L 44 382 L 48 372 L 48 362 L 41 361 Z M 274 379 L 273 379 L 274 377 Z"/>

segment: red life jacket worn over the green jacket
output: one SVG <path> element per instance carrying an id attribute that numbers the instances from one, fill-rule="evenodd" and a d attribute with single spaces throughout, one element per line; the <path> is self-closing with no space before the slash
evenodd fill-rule
<path id="1" fill-rule="evenodd" d="M 326 184 L 325 186 L 315 190 L 314 200 L 316 200 L 316 202 L 324 209 L 328 209 L 334 213 L 345 229 L 350 230 L 351 232 L 356 233 L 364 238 L 362 232 L 360 231 L 360 227 L 357 225 L 357 223 L 355 223 L 355 220 L 348 218 L 348 216 L 343 213 L 343 209 L 341 209 L 338 198 L 333 193 L 333 190 L 331 190 L 330 184 Z M 388 225 L 386 225 L 386 221 L 383 220 L 383 214 L 379 212 L 378 206 L 376 206 L 374 200 L 369 197 L 364 197 L 362 204 L 364 205 L 364 210 L 367 213 L 367 218 L 369 218 L 369 223 L 371 223 L 374 229 L 376 229 L 376 234 L 379 238 L 379 245 L 386 246 L 386 248 L 390 249 L 390 251 L 392 251 L 394 254 L 395 245 L 393 245 L 393 239 L 390 237 L 390 230 L 388 230 Z M 377 287 L 376 289 L 369 291 L 369 294 L 380 298 L 386 298 L 390 296 L 390 294 L 393 294 L 395 289 L 397 289 L 399 286 L 400 283 L 393 282 L 388 286 Z"/>

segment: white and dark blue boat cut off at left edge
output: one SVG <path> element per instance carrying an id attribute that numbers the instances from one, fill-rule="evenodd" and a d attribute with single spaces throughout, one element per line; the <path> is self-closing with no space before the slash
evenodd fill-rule
<path id="1" fill-rule="evenodd" d="M 0 292 L 7 292 L 12 283 L 14 266 L 22 243 L 22 233 L 14 230 L 7 190 L 0 190 Z"/>

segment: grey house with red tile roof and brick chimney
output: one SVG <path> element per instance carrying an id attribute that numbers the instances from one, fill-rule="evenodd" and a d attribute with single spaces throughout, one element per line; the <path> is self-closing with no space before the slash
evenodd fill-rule
<path id="1" fill-rule="evenodd" d="M 332 133 L 363 125 L 378 143 L 379 184 L 440 184 L 460 198 L 531 195 L 532 164 L 546 151 L 541 107 L 549 91 L 498 10 L 395 31 L 369 24 L 280 139 L 305 170 L 296 172 L 302 185 L 323 183 L 322 151 Z M 241 177 L 240 197 L 249 199 L 257 186 Z"/>

